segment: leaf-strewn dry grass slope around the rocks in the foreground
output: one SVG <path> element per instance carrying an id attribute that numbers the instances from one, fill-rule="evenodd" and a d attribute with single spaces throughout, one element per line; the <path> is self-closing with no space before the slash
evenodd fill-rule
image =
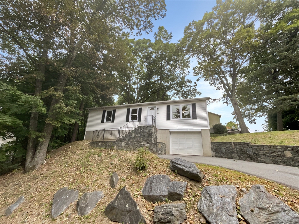
<path id="1" fill-rule="evenodd" d="M 242 197 L 241 188 L 250 189 L 253 184 L 262 184 L 269 193 L 299 211 L 299 191 L 283 185 L 208 165 L 197 164 L 205 175 L 202 183 L 180 176 L 169 169 L 169 161 L 148 153 L 149 168 L 138 173 L 132 162 L 136 152 L 113 149 L 90 148 L 88 141 L 73 142 L 52 151 L 46 163 L 39 170 L 24 174 L 22 170 L 0 177 L 0 223 L 113 223 L 104 215 L 104 209 L 114 199 L 118 191 L 126 186 L 138 203 L 147 223 L 152 223 L 156 205 L 147 202 L 141 195 L 146 179 L 155 174 L 167 174 L 171 180 L 187 181 L 184 201 L 187 204 L 187 223 L 200 223 L 201 214 L 196 205 L 201 190 L 207 185 L 235 185 L 237 201 Z M 109 186 L 109 177 L 116 171 L 120 177 L 115 189 Z M 79 217 L 76 203 L 70 205 L 56 220 L 50 217 L 51 204 L 55 192 L 62 188 L 78 189 L 79 197 L 88 191 L 104 191 L 105 197 L 87 216 Z M 2 216 L 6 208 L 16 199 L 25 196 L 25 202 L 9 217 Z M 159 203 L 163 204 L 163 203 Z M 240 220 L 239 223 L 245 223 Z"/>

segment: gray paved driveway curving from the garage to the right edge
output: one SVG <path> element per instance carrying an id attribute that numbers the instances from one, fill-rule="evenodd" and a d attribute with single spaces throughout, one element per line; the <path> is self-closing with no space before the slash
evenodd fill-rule
<path id="1" fill-rule="evenodd" d="M 236 170 L 244 174 L 268 179 L 299 190 L 299 168 L 292 166 L 203 156 L 160 155 L 159 157 L 163 159 L 173 159 L 175 157 L 180 157 L 189 162 L 220 166 L 231 170 Z"/>

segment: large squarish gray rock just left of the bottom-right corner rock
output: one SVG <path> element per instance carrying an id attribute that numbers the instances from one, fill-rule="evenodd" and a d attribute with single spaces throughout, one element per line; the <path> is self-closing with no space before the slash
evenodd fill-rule
<path id="1" fill-rule="evenodd" d="M 202 189 L 197 208 L 211 224 L 239 224 L 236 195 L 232 185 L 207 186 Z"/>

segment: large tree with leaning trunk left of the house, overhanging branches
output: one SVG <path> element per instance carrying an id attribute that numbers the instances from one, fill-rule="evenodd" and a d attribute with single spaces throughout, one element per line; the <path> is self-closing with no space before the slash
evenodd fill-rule
<path id="1" fill-rule="evenodd" d="M 42 164 L 53 129 L 62 125 L 67 118 L 64 115 L 74 109 L 73 105 L 65 104 L 64 93 L 68 78 L 74 77 L 78 70 L 85 70 L 74 66 L 77 56 L 87 54 L 94 64 L 101 65 L 108 53 L 106 49 L 113 48 L 122 28 L 132 32 L 136 29 L 137 34 L 150 32 L 151 20 L 165 16 L 165 3 L 163 0 L 7 0 L 0 3 L 0 15 L 3 55 L 7 53 L 17 59 L 19 54 L 26 59 L 22 62 L 33 68 L 29 75 L 36 80 L 34 95 L 49 102 L 41 132 L 39 112 L 33 109 L 31 113 L 25 162 L 25 171 L 30 171 Z M 47 69 L 54 72 L 51 80 L 54 85 L 45 83 Z M 4 69 L 2 73 L 13 77 L 10 70 Z M 97 73 L 106 75 L 100 69 Z"/>

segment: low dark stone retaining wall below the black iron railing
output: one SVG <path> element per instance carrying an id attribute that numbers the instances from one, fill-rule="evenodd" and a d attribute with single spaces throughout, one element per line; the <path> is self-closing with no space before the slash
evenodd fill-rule
<path id="1" fill-rule="evenodd" d="M 89 142 L 91 147 L 94 148 L 114 148 L 123 149 L 127 151 L 137 151 L 138 148 L 146 147 L 151 153 L 156 155 L 166 154 L 166 144 L 163 142 L 147 143 L 142 140 L 126 139 L 117 141 L 100 141 L 100 142 Z"/>

